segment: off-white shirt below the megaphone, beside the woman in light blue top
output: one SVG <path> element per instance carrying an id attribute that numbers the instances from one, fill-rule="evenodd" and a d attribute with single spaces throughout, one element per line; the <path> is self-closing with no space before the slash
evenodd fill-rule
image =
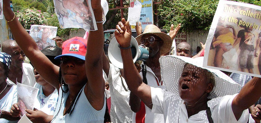
<path id="1" fill-rule="evenodd" d="M 132 123 L 132 110 L 128 103 L 130 91 L 125 79 L 120 76 L 120 69 L 111 63 L 108 77 L 105 73 L 103 74 L 103 77 L 110 85 L 111 121 L 114 123 Z"/>

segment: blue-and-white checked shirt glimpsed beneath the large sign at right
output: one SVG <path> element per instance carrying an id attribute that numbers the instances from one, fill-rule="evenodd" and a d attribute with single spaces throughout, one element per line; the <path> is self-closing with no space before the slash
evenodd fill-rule
<path id="1" fill-rule="evenodd" d="M 251 76 L 240 74 L 240 73 L 231 73 L 229 77 L 232 78 L 235 82 L 237 82 L 242 87 L 252 79 Z"/>

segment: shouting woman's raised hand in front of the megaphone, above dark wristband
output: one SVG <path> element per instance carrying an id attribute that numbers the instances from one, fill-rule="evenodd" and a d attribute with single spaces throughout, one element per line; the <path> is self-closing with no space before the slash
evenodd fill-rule
<path id="1" fill-rule="evenodd" d="M 131 27 L 129 22 L 125 18 L 121 19 L 121 22 L 118 22 L 115 30 L 115 37 L 117 42 L 121 47 L 129 47 L 131 41 Z"/>

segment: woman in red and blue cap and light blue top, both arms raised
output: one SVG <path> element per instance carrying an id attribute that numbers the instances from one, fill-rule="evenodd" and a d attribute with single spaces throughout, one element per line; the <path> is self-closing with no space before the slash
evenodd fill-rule
<path id="1" fill-rule="evenodd" d="M 59 90 L 59 99 L 51 122 L 103 122 L 105 113 L 104 80 L 102 73 L 103 9 L 100 0 L 91 1 L 98 30 L 90 31 L 87 40 L 74 37 L 63 43 L 60 68 L 38 49 L 36 42 L 24 30 L 10 8 L 10 0 L 3 4 L 4 16 L 17 44 L 30 59 L 39 74 Z M 59 80 L 57 80 L 59 78 Z M 17 117 L 18 107 L 12 107 Z M 29 114 L 27 114 L 29 115 Z M 50 119 L 44 119 L 49 122 Z"/>

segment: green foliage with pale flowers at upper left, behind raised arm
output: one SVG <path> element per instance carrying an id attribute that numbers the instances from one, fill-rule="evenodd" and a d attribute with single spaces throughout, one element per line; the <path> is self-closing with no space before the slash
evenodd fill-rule
<path id="1" fill-rule="evenodd" d="M 13 8 L 25 29 L 31 25 L 48 25 L 58 27 L 57 36 L 69 35 L 76 28 L 61 29 L 54 11 L 53 0 L 12 0 Z"/>

